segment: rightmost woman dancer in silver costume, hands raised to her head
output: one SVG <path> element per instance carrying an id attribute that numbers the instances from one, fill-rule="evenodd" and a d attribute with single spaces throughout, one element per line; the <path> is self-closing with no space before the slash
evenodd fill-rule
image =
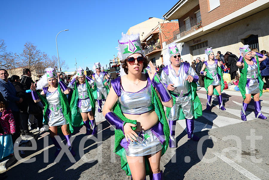
<path id="1" fill-rule="evenodd" d="M 259 97 L 262 95 L 263 81 L 259 72 L 259 62 L 266 59 L 266 56 L 251 51 L 248 45 L 239 48 L 240 58 L 236 65 L 240 68 L 239 89 L 244 99 L 241 109 L 241 119 L 247 120 L 246 110 L 250 103 L 251 96 L 254 100 L 254 114 L 256 118 L 267 119 L 262 115 L 261 102 Z M 252 57 L 252 56 L 256 57 Z"/>

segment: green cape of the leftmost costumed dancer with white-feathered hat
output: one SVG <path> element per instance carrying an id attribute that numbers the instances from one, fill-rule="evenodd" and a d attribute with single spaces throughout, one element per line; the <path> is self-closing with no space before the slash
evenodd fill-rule
<path id="1" fill-rule="evenodd" d="M 64 115 L 65 119 L 67 120 L 67 122 L 69 123 L 69 130 L 70 132 L 72 133 L 74 130 L 73 130 L 73 127 L 71 125 L 71 111 L 70 111 L 70 108 L 69 108 L 69 104 L 68 104 L 68 100 L 67 100 L 67 97 L 66 95 L 62 92 L 60 86 L 58 86 L 58 89 L 57 91 L 59 92 L 60 94 L 60 99 L 61 99 L 61 105 L 62 105 L 62 114 Z M 44 106 L 44 113 L 43 113 L 43 116 L 44 116 L 44 123 L 45 124 L 48 124 L 48 116 L 46 114 L 47 110 L 48 110 L 48 101 L 46 99 L 46 97 L 42 96 L 39 92 L 37 92 L 39 98 L 41 99 L 41 102 Z M 58 126 L 58 132 L 62 132 L 61 130 L 61 127 Z"/>

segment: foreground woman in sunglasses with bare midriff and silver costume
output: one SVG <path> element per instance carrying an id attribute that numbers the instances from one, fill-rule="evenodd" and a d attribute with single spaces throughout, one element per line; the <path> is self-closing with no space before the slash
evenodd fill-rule
<path id="1" fill-rule="evenodd" d="M 165 117 L 161 120 L 157 115 L 156 103 L 152 104 L 152 97 L 157 97 L 158 94 L 157 98 L 161 98 L 160 104 L 167 107 L 172 107 L 172 98 L 152 62 L 149 62 L 151 71 L 141 73 L 147 67 L 148 60 L 143 57 L 139 34 L 122 36 L 119 48 L 123 59 L 122 67 L 127 75 L 111 81 L 112 87 L 103 108 L 103 115 L 117 129 L 115 142 L 119 130 L 124 135 L 120 146 L 115 146 L 117 150 L 123 147 L 123 151 L 115 152 L 121 156 L 122 168 L 126 174 L 131 175 L 134 180 L 145 179 L 146 175 L 149 175 L 150 179 L 161 180 L 160 159 L 169 144 L 169 126 Z M 153 86 L 157 92 L 156 96 Z M 122 116 L 116 115 L 117 110 L 113 109 L 116 103 Z M 126 122 L 126 118 L 136 120 L 136 123 Z M 165 140 L 161 140 L 164 136 Z M 127 162 L 123 163 L 125 161 Z"/>

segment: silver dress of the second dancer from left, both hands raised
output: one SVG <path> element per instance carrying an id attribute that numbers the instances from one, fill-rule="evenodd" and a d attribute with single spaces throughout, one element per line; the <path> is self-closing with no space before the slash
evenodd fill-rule
<path id="1" fill-rule="evenodd" d="M 91 100 L 88 96 L 86 84 L 79 84 L 77 86 L 77 94 L 79 100 L 77 106 L 79 107 L 80 112 L 90 112 L 91 111 Z"/>

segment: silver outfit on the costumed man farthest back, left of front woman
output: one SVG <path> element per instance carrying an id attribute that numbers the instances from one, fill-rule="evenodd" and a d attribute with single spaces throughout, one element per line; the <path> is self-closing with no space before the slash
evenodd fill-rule
<path id="1" fill-rule="evenodd" d="M 107 91 L 106 87 L 103 85 L 103 83 L 106 81 L 106 73 L 100 72 L 99 76 L 97 73 L 94 73 L 94 81 L 97 86 L 97 100 L 102 99 L 102 94 L 104 98 L 107 98 Z"/>

